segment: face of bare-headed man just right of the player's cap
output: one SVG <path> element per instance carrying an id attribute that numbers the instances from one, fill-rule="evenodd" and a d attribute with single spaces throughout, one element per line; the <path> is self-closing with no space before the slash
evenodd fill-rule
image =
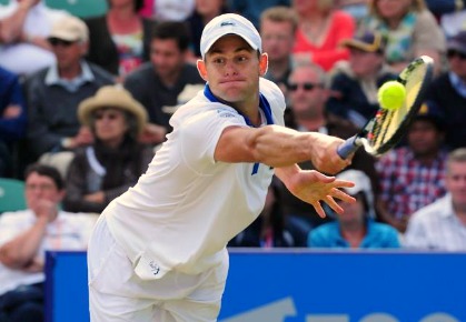
<path id="1" fill-rule="evenodd" d="M 295 44 L 293 26 L 287 21 L 264 20 L 260 26 L 262 49 L 267 52 L 270 63 L 288 60 Z"/>

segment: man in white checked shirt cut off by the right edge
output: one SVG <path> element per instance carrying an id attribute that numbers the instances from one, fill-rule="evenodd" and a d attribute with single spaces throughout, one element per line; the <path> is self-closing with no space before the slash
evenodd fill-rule
<path id="1" fill-rule="evenodd" d="M 448 193 L 409 219 L 405 245 L 437 251 L 466 251 L 466 149 L 450 152 L 445 183 Z"/>

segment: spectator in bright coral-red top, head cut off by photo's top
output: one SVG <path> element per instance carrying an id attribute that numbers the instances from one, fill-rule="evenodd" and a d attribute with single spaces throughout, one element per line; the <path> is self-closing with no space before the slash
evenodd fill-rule
<path id="1" fill-rule="evenodd" d="M 336 9 L 335 0 L 293 0 L 299 17 L 294 48 L 296 61 L 311 61 L 329 71 L 339 60 L 347 60 L 349 52 L 339 44 L 354 36 L 355 19 Z"/>

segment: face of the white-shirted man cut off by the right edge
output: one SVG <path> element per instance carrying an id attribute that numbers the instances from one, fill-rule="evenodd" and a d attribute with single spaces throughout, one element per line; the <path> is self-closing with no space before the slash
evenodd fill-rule
<path id="1" fill-rule="evenodd" d="M 446 175 L 446 187 L 452 193 L 455 208 L 466 210 L 466 162 L 449 162 Z"/>

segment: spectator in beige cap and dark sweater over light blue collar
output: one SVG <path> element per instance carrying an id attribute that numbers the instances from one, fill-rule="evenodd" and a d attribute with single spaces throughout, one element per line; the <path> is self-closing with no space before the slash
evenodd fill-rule
<path id="1" fill-rule="evenodd" d="M 79 124 L 78 104 L 100 87 L 113 82 L 111 74 L 83 59 L 88 29 L 80 19 L 67 17 L 57 21 L 49 42 L 57 63 L 36 72 L 26 82 L 28 148 L 33 160 L 46 152 L 89 144 L 92 135 Z"/>

